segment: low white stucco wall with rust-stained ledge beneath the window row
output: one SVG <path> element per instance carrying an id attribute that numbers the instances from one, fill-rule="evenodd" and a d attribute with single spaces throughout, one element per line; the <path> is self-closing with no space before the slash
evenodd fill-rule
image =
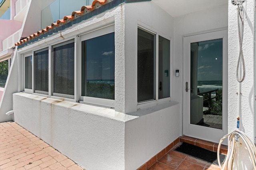
<path id="1" fill-rule="evenodd" d="M 26 93 L 14 94 L 14 112 L 18 124 L 82 167 L 124 169 L 123 113 Z"/>

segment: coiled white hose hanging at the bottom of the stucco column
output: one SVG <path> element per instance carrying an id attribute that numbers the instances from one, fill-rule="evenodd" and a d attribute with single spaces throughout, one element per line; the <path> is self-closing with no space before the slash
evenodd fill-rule
<path id="1" fill-rule="evenodd" d="M 220 146 L 225 138 L 228 137 L 228 152 L 226 159 L 221 165 L 220 162 Z M 250 155 L 250 160 L 252 162 L 252 165 L 254 167 L 254 170 L 256 170 L 256 147 L 254 143 L 245 135 L 244 132 L 235 130 L 232 133 L 229 133 L 228 135 L 225 135 L 222 139 L 220 139 L 220 143 L 218 145 L 218 150 L 217 150 L 217 157 L 218 157 L 218 164 L 220 167 L 220 170 L 232 170 L 233 169 L 233 164 L 234 164 L 234 158 L 236 156 L 236 149 L 238 146 L 238 139 L 242 139 L 244 141 L 246 148 L 249 152 Z M 225 169 L 226 168 L 226 169 Z"/>

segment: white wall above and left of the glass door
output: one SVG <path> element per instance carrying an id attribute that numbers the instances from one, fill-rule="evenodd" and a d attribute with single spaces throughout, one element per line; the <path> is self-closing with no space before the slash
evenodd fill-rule
<path id="1" fill-rule="evenodd" d="M 185 82 L 183 82 L 184 73 L 182 72 L 184 70 L 183 37 L 223 28 L 228 28 L 228 4 L 174 18 L 174 57 L 172 67 L 173 70 L 181 70 L 180 77 L 174 77 L 173 81 L 173 86 L 176 87 L 173 96 L 176 96 L 175 100 L 177 102 L 182 102 L 182 94 L 186 88 Z M 186 107 L 186 105 L 180 105 L 180 115 L 183 114 L 183 106 Z M 180 129 L 182 129 L 182 116 L 180 116 L 180 122 Z"/>

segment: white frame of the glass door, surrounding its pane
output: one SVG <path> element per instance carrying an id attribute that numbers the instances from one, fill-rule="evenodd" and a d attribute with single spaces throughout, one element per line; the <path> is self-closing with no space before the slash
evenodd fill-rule
<path id="1" fill-rule="evenodd" d="M 190 44 L 222 38 L 222 129 L 190 124 Z M 219 143 L 228 133 L 228 29 L 196 33 L 183 37 L 183 117 L 182 135 Z"/>

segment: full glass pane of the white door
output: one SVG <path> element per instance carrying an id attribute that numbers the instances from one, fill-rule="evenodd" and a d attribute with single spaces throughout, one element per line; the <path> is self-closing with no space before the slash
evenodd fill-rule
<path id="1" fill-rule="evenodd" d="M 190 44 L 190 123 L 222 129 L 222 39 Z"/>

